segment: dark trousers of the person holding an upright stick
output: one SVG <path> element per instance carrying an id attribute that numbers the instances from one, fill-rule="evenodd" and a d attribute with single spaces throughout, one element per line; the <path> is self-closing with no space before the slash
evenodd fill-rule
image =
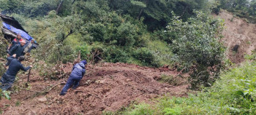
<path id="1" fill-rule="evenodd" d="M 15 81 L 15 76 L 9 76 L 8 74 L 4 73 L 3 76 L 1 76 L 1 90 L 8 90 L 10 87 L 12 87 L 12 84 Z"/>

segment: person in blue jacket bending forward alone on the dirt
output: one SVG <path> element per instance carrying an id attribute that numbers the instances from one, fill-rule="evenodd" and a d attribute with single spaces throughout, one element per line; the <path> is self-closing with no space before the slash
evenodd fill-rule
<path id="1" fill-rule="evenodd" d="M 80 79 L 83 78 L 84 74 L 86 74 L 86 60 L 80 61 L 80 63 L 75 64 L 75 66 L 72 68 L 72 72 L 69 76 L 69 79 L 67 80 L 67 83 L 61 90 L 61 93 L 59 95 L 66 95 L 67 90 L 69 90 L 69 87 L 72 87 L 72 89 L 76 89 L 79 85 Z"/>

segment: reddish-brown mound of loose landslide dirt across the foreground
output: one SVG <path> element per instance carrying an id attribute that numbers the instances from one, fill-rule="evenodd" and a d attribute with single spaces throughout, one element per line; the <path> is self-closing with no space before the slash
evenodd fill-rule
<path id="1" fill-rule="evenodd" d="M 178 72 L 133 64 L 101 63 L 87 68 L 80 87 L 59 96 L 64 84 L 56 85 L 47 94 L 34 95 L 37 92 L 31 90 L 41 91 L 65 79 L 44 81 L 32 70 L 30 91 L 13 92 L 12 100 L 0 100 L 0 107 L 4 114 L 102 114 L 102 111 L 117 111 L 135 101 L 147 102 L 161 95 L 187 96 L 187 75 L 176 76 L 181 80 L 173 86 L 157 81 L 162 74 L 176 76 Z M 20 77 L 17 84 L 23 85 L 25 81 L 26 75 Z"/>

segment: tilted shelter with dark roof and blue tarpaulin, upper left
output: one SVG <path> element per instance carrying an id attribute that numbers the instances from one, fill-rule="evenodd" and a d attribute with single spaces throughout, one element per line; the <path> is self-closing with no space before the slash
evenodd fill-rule
<path id="1" fill-rule="evenodd" d="M 16 38 L 19 33 L 20 36 L 26 41 L 31 41 L 33 38 L 29 36 L 29 33 L 24 30 L 24 28 L 15 20 L 14 17 L 9 17 L 6 15 L 0 15 L 1 20 L 3 21 L 2 31 L 4 33 L 4 38 L 12 41 Z M 34 42 L 34 47 L 37 47 L 37 41 Z"/>

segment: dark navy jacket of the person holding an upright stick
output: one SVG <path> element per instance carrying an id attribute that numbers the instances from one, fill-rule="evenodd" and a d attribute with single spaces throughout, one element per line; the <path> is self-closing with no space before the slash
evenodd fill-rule
<path id="1" fill-rule="evenodd" d="M 10 65 L 9 68 L 7 69 L 6 74 L 8 74 L 9 76 L 16 76 L 16 74 L 18 73 L 18 71 L 20 71 L 20 69 L 22 71 L 27 71 L 29 70 L 30 66 L 28 67 L 24 67 L 19 60 L 15 59 L 14 57 L 10 56 L 7 58 L 8 61 L 10 61 Z"/>

